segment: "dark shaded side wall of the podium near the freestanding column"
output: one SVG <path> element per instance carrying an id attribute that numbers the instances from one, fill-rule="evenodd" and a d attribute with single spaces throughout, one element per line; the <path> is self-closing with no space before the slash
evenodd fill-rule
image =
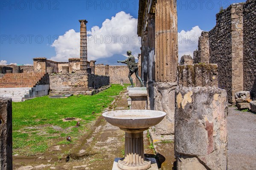
<path id="1" fill-rule="evenodd" d="M 109 85 L 109 76 L 88 75 L 88 88 L 98 89 L 105 85 Z"/>

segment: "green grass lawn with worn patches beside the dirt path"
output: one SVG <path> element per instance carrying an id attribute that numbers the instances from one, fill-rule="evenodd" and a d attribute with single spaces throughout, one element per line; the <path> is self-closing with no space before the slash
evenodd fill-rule
<path id="1" fill-rule="evenodd" d="M 121 85 L 112 85 L 94 96 L 79 95 L 66 99 L 38 97 L 25 102 L 12 103 L 13 154 L 31 156 L 44 153 L 54 144 L 75 143 L 78 136 L 89 127 L 88 122 L 111 104 L 123 90 Z M 77 118 L 77 121 L 64 122 L 64 118 Z M 66 140 L 72 137 L 72 142 Z"/>

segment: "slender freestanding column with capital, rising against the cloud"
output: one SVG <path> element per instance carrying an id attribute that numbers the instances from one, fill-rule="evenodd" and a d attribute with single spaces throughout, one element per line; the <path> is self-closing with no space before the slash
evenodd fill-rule
<path id="1" fill-rule="evenodd" d="M 87 71 L 87 20 L 79 20 L 80 22 L 80 71 Z"/>

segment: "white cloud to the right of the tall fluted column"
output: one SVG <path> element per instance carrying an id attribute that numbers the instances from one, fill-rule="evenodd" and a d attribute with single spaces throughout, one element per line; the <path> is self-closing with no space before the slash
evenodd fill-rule
<path id="1" fill-rule="evenodd" d="M 189 31 L 178 32 L 179 60 L 183 55 L 193 57 L 193 52 L 198 48 L 198 38 L 202 31 L 199 26 L 195 26 Z"/>

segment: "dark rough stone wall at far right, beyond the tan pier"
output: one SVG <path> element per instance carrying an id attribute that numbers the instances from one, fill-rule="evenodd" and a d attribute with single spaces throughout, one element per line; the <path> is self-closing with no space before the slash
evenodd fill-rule
<path id="1" fill-rule="evenodd" d="M 244 3 L 244 91 L 253 91 L 256 98 L 256 1 Z"/>

